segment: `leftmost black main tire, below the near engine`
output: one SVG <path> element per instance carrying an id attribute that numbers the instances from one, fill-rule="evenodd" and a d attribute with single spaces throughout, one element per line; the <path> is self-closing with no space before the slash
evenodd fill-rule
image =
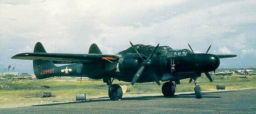
<path id="1" fill-rule="evenodd" d="M 122 88 L 118 84 L 113 84 L 111 88 L 108 89 L 108 96 L 112 101 L 121 99 L 123 97 Z"/>

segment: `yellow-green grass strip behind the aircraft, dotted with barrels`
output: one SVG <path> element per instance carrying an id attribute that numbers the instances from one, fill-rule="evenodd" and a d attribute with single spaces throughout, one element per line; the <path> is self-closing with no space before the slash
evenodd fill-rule
<path id="1" fill-rule="evenodd" d="M 212 77 L 213 82 L 209 82 L 206 76 L 198 78 L 199 85 L 203 91 L 216 90 L 216 85 L 223 85 L 226 89 L 256 87 L 256 76 L 216 76 Z M 78 78 L 68 78 L 77 81 L 59 81 L 57 78 L 48 78 L 42 80 L 21 80 L 21 81 L 0 81 L 0 107 L 5 105 L 12 105 L 13 103 L 40 103 L 45 102 L 61 102 L 75 100 L 76 93 L 86 93 L 87 98 L 97 98 L 108 96 L 107 90 L 99 90 L 98 88 L 108 88 L 106 83 L 102 80 L 80 80 Z M 119 85 L 130 85 L 130 82 L 114 81 L 113 83 Z M 161 86 L 164 82 L 161 82 Z M 42 89 L 41 86 L 49 86 L 49 89 Z M 125 94 L 141 94 L 141 93 L 161 93 L 161 86 L 153 82 L 149 83 L 136 83 L 131 92 Z M 181 84 L 177 85 L 176 92 L 193 92 L 194 83 L 189 83 L 189 79 L 181 80 Z M 48 91 L 52 92 L 51 98 L 39 98 L 39 92 Z M 36 98 L 25 98 L 36 97 Z M 8 99 L 4 101 L 4 99 Z M 49 101 L 48 101 L 49 100 Z"/>

